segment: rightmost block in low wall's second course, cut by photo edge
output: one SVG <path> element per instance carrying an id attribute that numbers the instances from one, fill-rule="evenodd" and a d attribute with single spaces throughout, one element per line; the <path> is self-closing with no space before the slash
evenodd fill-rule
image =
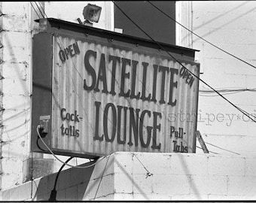
<path id="1" fill-rule="evenodd" d="M 256 177 L 229 176 L 228 195 L 256 197 Z"/>

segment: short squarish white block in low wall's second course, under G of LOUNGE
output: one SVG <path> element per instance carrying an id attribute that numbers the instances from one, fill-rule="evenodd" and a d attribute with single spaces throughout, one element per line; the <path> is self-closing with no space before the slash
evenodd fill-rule
<path id="1" fill-rule="evenodd" d="M 145 174 L 133 174 L 133 193 L 149 194 L 154 192 L 154 174 L 146 176 Z"/>

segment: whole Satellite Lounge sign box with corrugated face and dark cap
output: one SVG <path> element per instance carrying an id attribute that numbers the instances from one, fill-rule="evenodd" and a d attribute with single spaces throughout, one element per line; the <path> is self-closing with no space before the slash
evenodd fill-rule
<path id="1" fill-rule="evenodd" d="M 47 153 L 36 126 L 48 116 L 43 139 L 56 154 L 195 152 L 196 50 L 161 44 L 181 66 L 141 38 L 55 19 L 40 25 L 33 42 L 33 151 Z"/>

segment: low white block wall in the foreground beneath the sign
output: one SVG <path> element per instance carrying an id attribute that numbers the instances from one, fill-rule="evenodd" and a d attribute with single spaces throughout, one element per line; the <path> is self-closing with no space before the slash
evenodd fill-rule
<path id="1" fill-rule="evenodd" d="M 62 171 L 57 200 L 254 200 L 256 157 L 114 153 Z M 2 201 L 48 200 L 56 174 L 2 191 Z"/>

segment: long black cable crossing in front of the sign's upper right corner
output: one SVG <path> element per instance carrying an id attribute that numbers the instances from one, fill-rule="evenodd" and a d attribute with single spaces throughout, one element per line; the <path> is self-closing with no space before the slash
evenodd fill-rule
<path id="1" fill-rule="evenodd" d="M 151 38 L 150 35 L 148 35 L 147 32 L 145 32 L 140 26 L 138 26 L 128 15 L 126 15 L 126 13 L 114 2 L 114 5 L 123 13 L 123 15 L 125 15 L 134 25 L 136 25 L 145 35 L 148 36 L 148 38 L 151 39 L 151 41 L 153 41 L 155 44 L 157 44 L 162 50 L 164 50 L 169 56 L 172 57 L 172 59 L 174 59 L 176 62 L 178 62 L 179 65 L 181 65 L 183 68 L 185 68 L 187 71 L 190 72 L 190 74 L 194 75 L 194 77 L 197 77 L 197 75 L 195 75 L 193 72 L 191 72 L 190 70 L 188 70 L 184 65 L 181 64 L 181 62 L 178 61 L 178 59 L 176 59 L 174 56 L 172 56 L 172 54 L 170 54 L 168 51 L 166 51 L 163 46 L 161 46 L 157 41 L 155 41 L 153 38 Z M 232 102 L 230 102 L 227 98 L 225 98 L 223 95 L 221 95 L 221 93 L 219 93 L 217 90 L 215 90 L 212 86 L 210 86 L 208 83 L 206 83 L 204 80 L 200 79 L 200 77 L 197 77 L 198 80 L 200 80 L 202 83 L 204 83 L 206 86 L 209 86 L 210 89 L 212 89 L 214 92 L 216 92 L 218 95 L 220 95 L 222 98 L 224 98 L 224 100 L 226 100 L 228 103 L 230 103 L 230 105 L 232 105 L 234 108 L 236 108 L 238 111 L 241 111 L 242 114 L 245 114 L 246 117 L 248 117 L 250 120 L 254 121 L 254 123 L 256 123 L 256 120 L 253 120 L 251 117 L 249 117 L 246 111 L 242 110 L 241 108 L 237 107 L 236 105 L 234 105 Z"/>

